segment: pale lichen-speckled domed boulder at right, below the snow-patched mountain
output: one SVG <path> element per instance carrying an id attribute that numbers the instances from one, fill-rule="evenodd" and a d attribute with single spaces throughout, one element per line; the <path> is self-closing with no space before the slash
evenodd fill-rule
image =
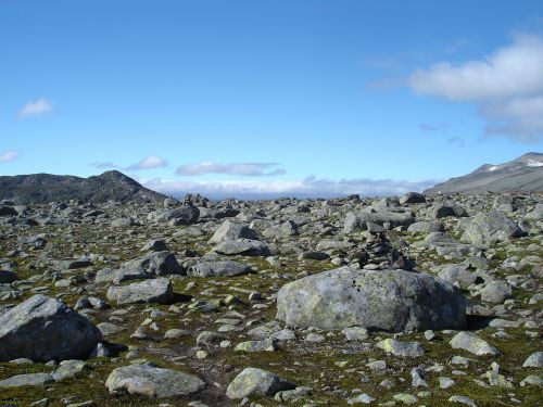
<path id="1" fill-rule="evenodd" d="M 473 244 L 490 244 L 522 236 L 522 230 L 505 214 L 497 211 L 473 216 L 462 236 L 462 240 Z"/>

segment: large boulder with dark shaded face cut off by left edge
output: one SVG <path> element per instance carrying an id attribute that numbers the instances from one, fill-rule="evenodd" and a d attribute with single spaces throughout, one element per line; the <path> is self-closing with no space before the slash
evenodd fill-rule
<path id="1" fill-rule="evenodd" d="M 81 359 L 101 341 L 87 318 L 46 295 L 34 295 L 0 315 L 0 361 Z"/>

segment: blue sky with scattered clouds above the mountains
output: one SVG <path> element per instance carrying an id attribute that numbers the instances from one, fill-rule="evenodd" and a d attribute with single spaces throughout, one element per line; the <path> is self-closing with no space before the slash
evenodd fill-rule
<path id="1" fill-rule="evenodd" d="M 402 193 L 543 151 L 543 2 L 0 2 L 0 175 Z"/>

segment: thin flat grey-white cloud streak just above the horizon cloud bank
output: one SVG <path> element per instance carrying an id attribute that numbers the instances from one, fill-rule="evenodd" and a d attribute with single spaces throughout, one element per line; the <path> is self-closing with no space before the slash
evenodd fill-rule
<path id="1" fill-rule="evenodd" d="M 181 176 L 195 176 L 205 174 L 230 174 L 247 177 L 263 177 L 285 175 L 287 171 L 282 168 L 269 170 L 278 166 L 278 163 L 230 163 L 217 164 L 213 162 L 202 162 L 194 164 L 185 164 L 177 168 L 176 174 Z"/>

